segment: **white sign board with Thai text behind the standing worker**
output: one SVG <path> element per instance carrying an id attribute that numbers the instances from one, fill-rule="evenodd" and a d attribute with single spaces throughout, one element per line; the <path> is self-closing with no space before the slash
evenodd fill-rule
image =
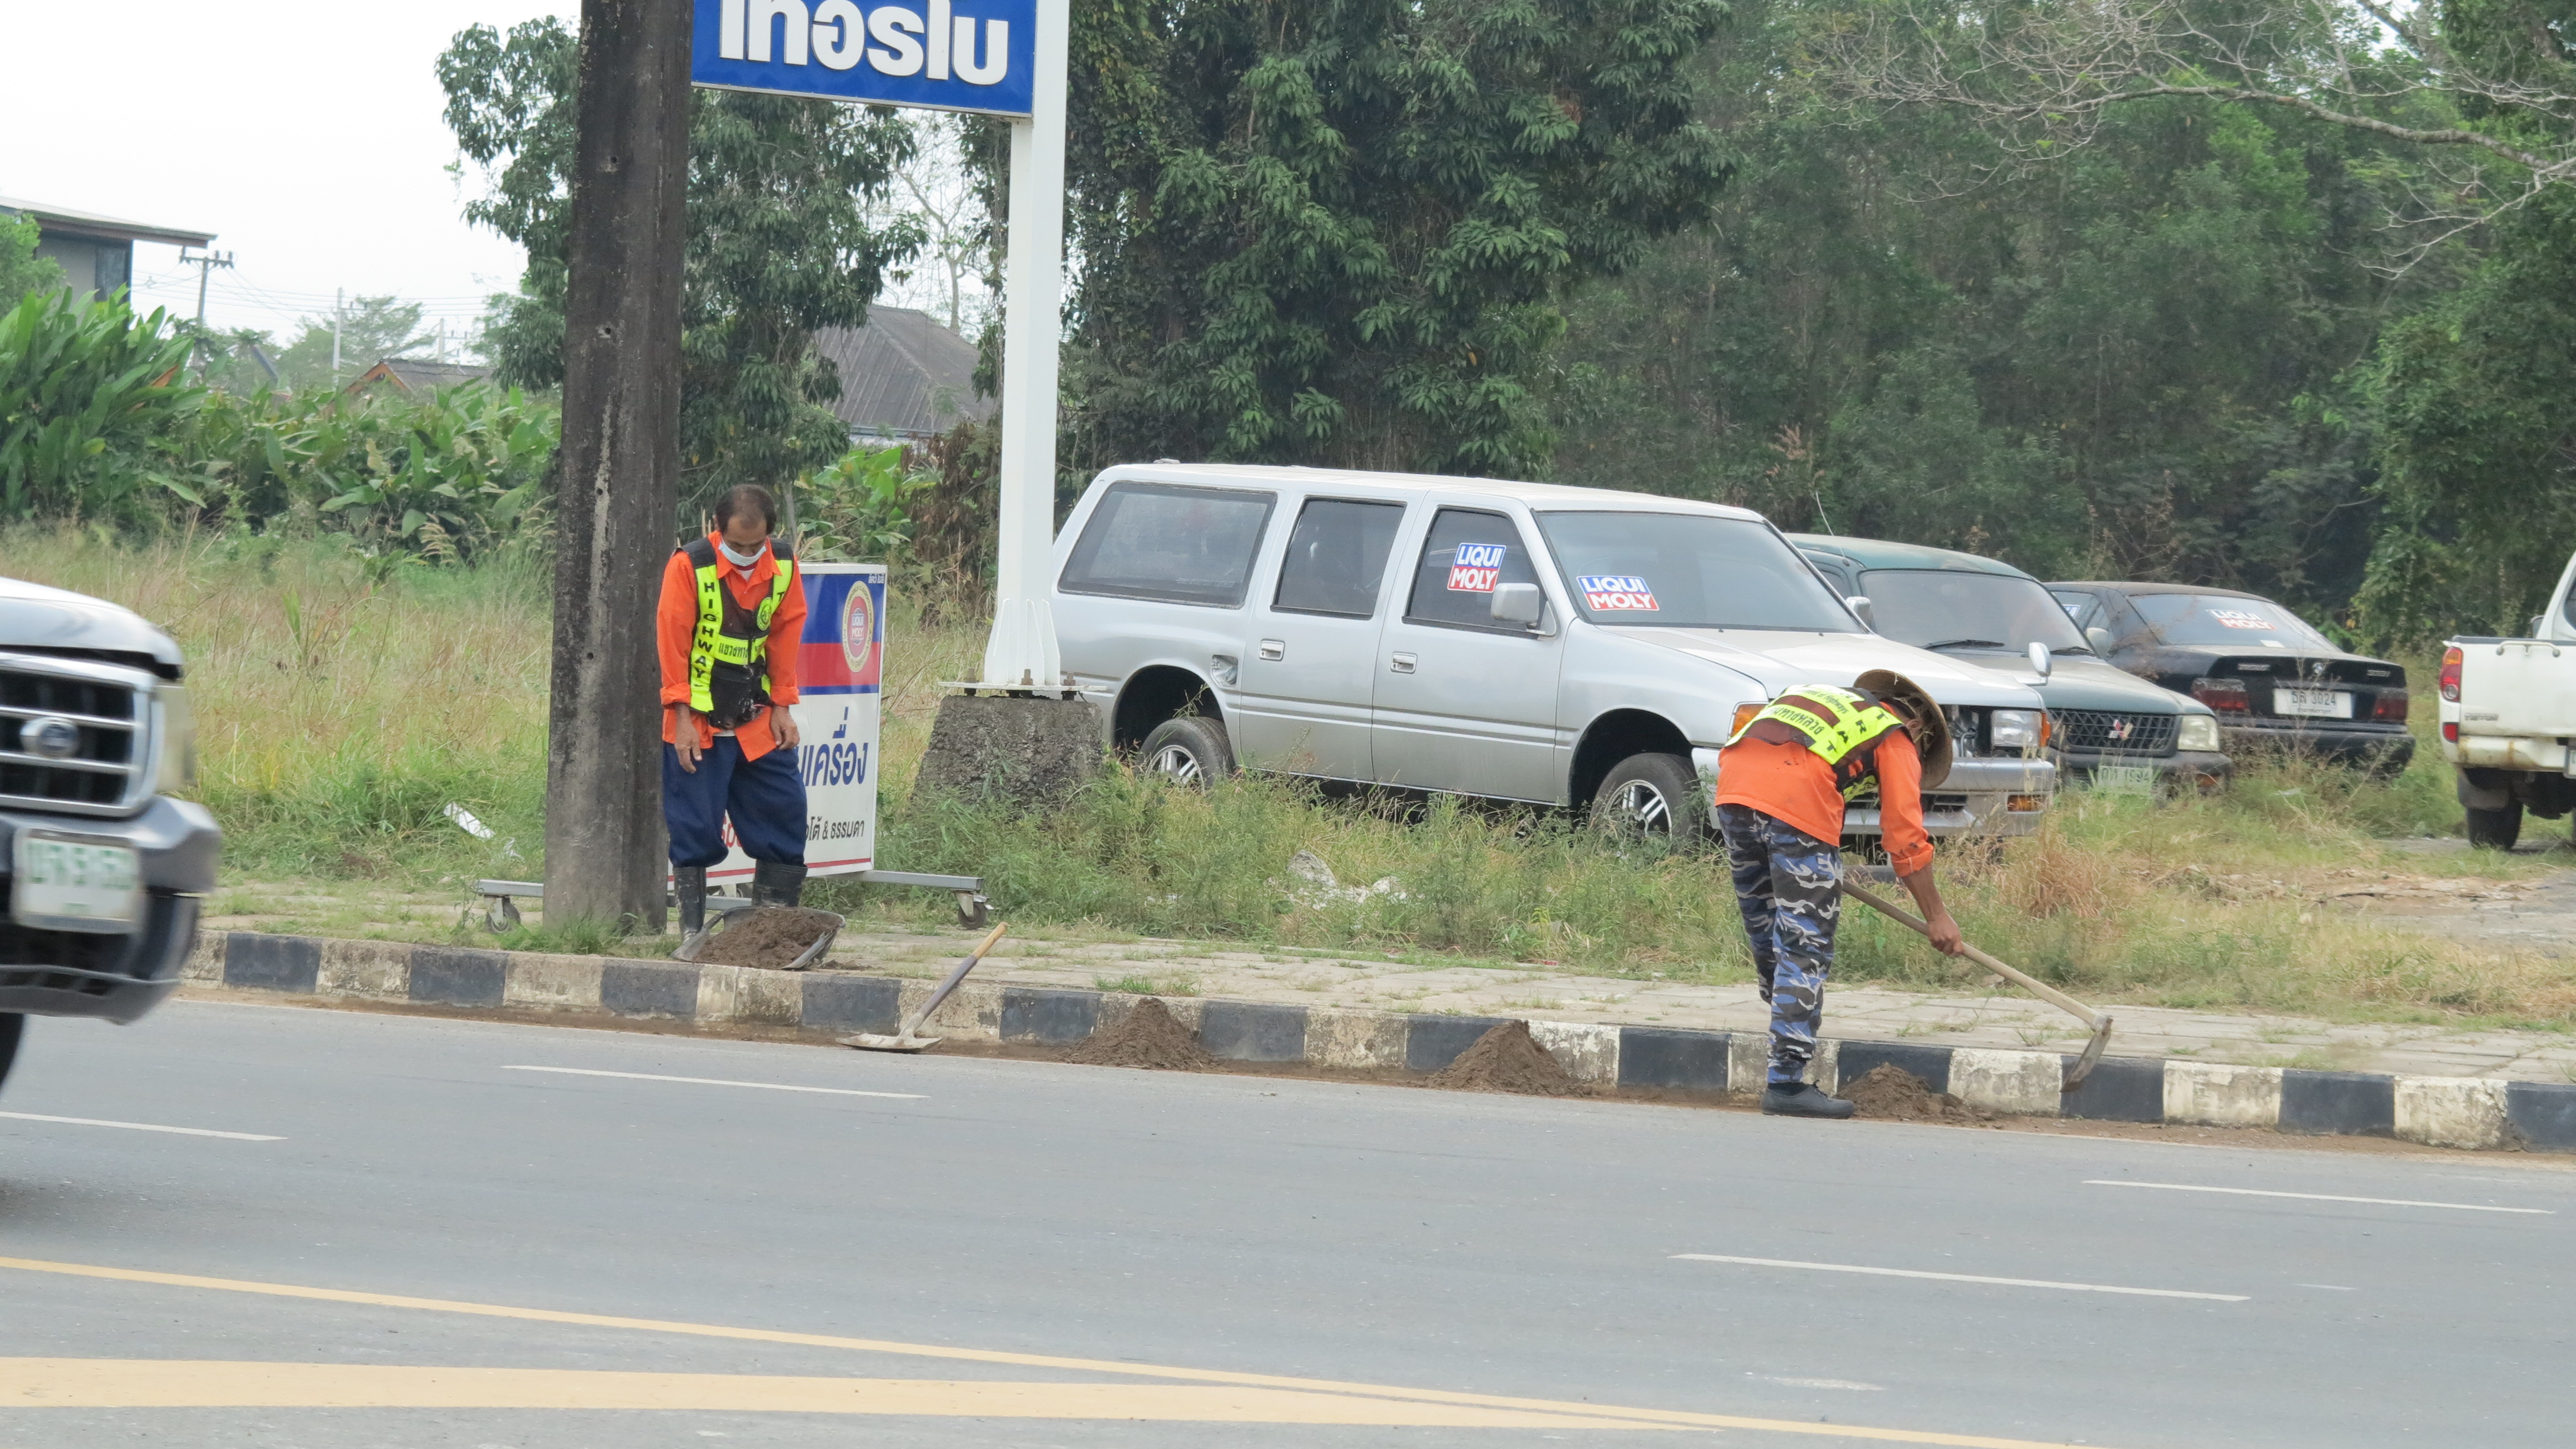
<path id="1" fill-rule="evenodd" d="M 886 565 L 796 562 L 806 627 L 796 647 L 796 768 L 806 781 L 806 871 L 876 866 L 876 727 L 886 678 Z M 708 884 L 752 879 L 724 822 L 726 856 Z"/>

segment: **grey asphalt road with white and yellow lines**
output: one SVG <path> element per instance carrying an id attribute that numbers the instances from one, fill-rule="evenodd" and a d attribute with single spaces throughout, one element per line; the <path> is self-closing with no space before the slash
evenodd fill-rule
<path id="1" fill-rule="evenodd" d="M 0 1449 L 2568 1436 L 2543 1160 L 229 1003 L 0 1114 Z"/>

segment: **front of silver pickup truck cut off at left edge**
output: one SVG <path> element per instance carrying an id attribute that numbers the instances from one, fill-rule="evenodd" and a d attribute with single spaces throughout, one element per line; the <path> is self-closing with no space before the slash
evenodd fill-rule
<path id="1" fill-rule="evenodd" d="M 0 1078 L 28 1016 L 134 1021 L 178 987 L 224 846 L 167 794 L 193 771 L 170 634 L 0 578 Z"/>

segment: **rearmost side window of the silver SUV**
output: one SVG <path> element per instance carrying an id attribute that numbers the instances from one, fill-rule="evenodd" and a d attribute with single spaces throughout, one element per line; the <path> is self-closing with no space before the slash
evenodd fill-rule
<path id="1" fill-rule="evenodd" d="M 1056 588 L 1234 608 L 1275 505 L 1275 492 L 1113 482 Z"/>

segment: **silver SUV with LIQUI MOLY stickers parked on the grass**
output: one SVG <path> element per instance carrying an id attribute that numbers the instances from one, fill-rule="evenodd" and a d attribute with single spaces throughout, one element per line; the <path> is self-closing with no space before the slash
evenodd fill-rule
<path id="1" fill-rule="evenodd" d="M 2038 694 L 1880 639 L 1744 508 L 1126 464 L 1074 505 L 1054 570 L 1066 673 L 1110 748 L 1172 776 L 1247 766 L 1700 833 L 1739 714 L 1893 668 L 1958 737 L 1924 797 L 1935 835 L 2030 833 L 2056 789 Z M 1875 802 L 1847 830 L 1878 835 Z"/>

